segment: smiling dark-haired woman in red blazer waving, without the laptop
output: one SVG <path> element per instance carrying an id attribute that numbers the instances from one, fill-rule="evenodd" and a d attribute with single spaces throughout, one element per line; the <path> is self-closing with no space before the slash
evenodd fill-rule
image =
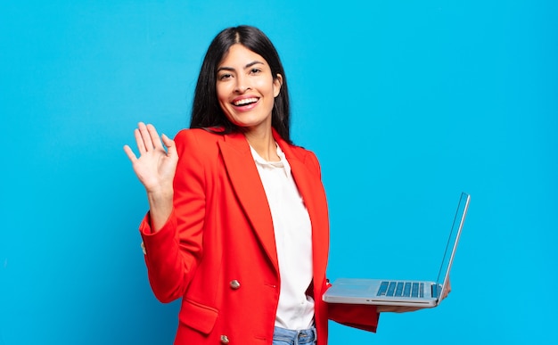
<path id="1" fill-rule="evenodd" d="M 325 345 L 328 318 L 375 331 L 375 307 L 321 299 L 320 167 L 291 144 L 287 79 L 261 31 L 229 28 L 211 42 L 191 129 L 173 141 L 140 123 L 135 140 L 140 157 L 125 151 L 150 206 L 140 232 L 152 290 L 182 299 L 176 344 Z"/>

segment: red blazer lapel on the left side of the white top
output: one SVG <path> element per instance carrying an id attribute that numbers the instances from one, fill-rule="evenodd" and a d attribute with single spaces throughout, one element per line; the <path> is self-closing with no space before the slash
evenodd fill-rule
<path id="1" fill-rule="evenodd" d="M 267 257 L 278 272 L 273 220 L 266 192 L 259 178 L 258 168 L 256 168 L 250 152 L 250 146 L 242 134 L 235 133 L 224 136 L 224 140 L 219 141 L 218 144 L 234 193 L 249 218 Z"/>

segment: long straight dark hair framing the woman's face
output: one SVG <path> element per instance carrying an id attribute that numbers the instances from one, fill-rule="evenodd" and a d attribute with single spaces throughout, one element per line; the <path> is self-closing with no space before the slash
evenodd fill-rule
<path id="1" fill-rule="evenodd" d="M 239 128 L 226 118 L 217 101 L 217 65 L 223 60 L 231 45 L 241 44 L 254 53 L 263 57 L 271 69 L 273 78 L 277 74 L 283 77 L 283 84 L 279 95 L 275 97 L 271 112 L 271 126 L 283 140 L 291 143 L 289 135 L 290 109 L 287 78 L 279 54 L 269 38 L 261 30 L 242 25 L 224 29 L 213 38 L 201 64 L 200 76 L 193 97 L 191 128 L 220 127 L 223 131 L 217 133 L 231 133 Z"/>

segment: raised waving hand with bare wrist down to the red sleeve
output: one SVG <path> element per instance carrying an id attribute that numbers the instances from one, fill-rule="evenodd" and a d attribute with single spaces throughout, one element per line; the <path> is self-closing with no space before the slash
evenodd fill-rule
<path id="1" fill-rule="evenodd" d="M 135 128 L 134 135 L 139 158 L 128 145 L 124 146 L 124 152 L 145 187 L 153 230 L 158 230 L 172 210 L 173 180 L 178 162 L 175 142 L 168 136 L 159 136 L 155 127 L 146 126 L 143 122 Z"/>

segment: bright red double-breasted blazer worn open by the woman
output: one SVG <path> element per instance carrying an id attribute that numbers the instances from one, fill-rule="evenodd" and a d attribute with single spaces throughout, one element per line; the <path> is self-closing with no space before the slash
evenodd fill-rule
<path id="1" fill-rule="evenodd" d="M 327 319 L 375 331 L 373 307 L 328 306 L 325 268 L 329 220 L 316 155 L 287 144 L 285 153 L 312 223 L 317 343 L 327 344 Z M 152 233 L 140 226 L 152 290 L 161 302 L 182 298 L 175 344 L 271 344 L 279 300 L 274 228 L 250 146 L 242 134 L 203 129 L 176 136 L 179 155 L 174 209 Z"/>

